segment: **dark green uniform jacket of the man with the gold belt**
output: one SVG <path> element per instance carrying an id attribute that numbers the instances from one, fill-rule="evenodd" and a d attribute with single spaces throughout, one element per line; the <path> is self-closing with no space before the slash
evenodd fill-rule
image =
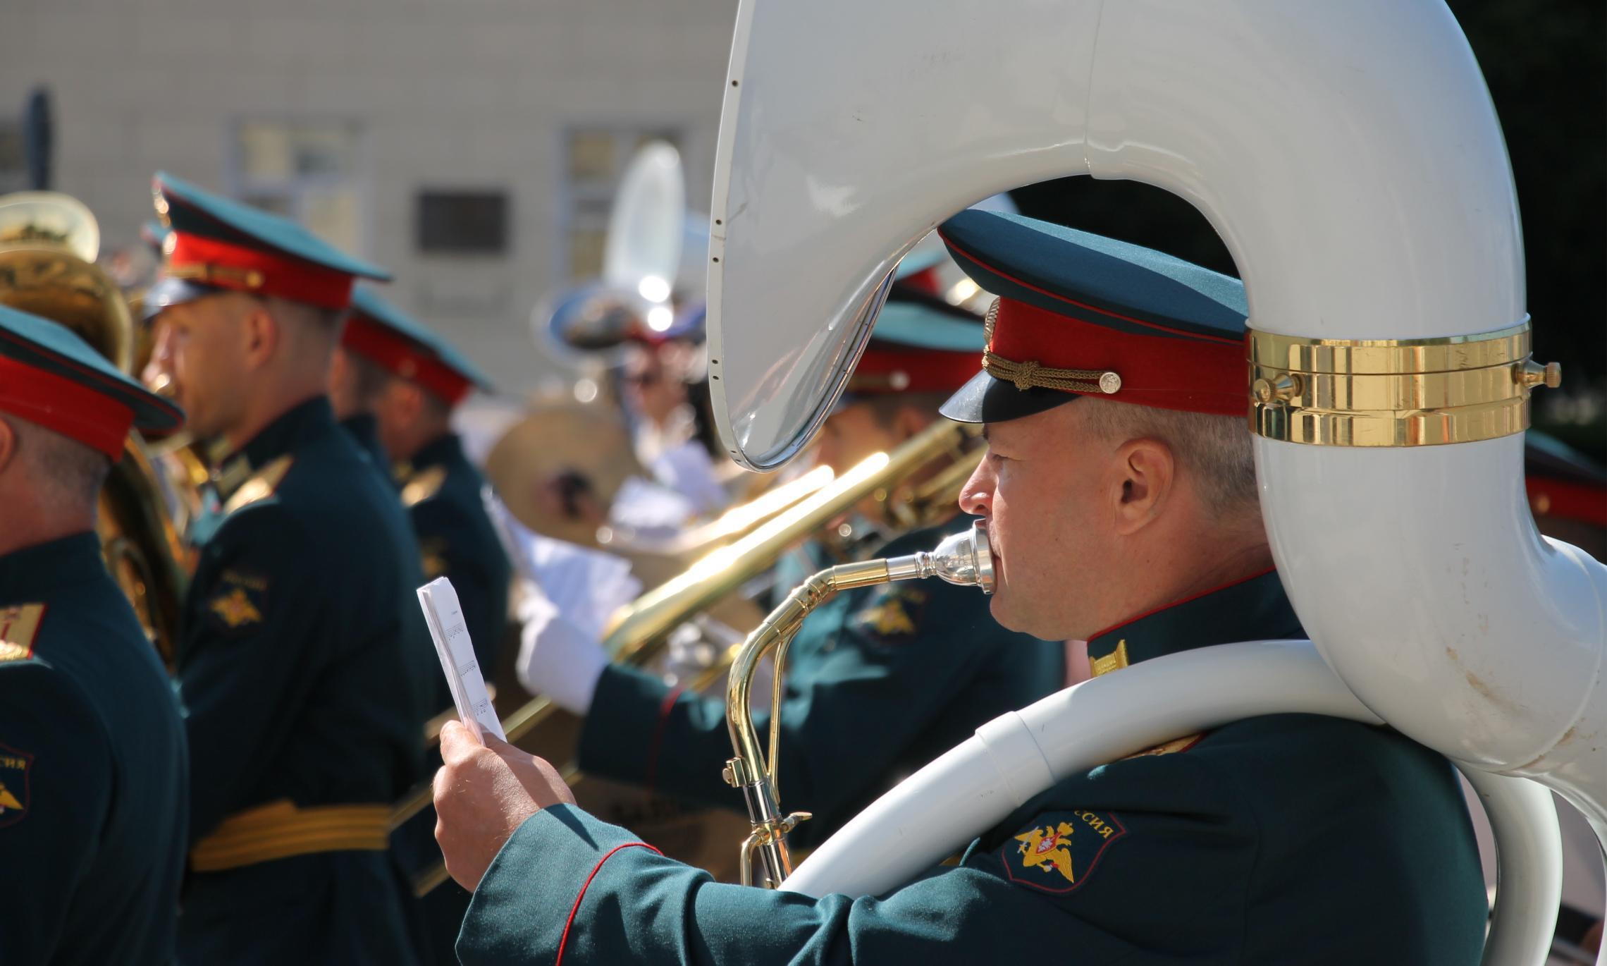
<path id="1" fill-rule="evenodd" d="M 419 775 L 421 694 L 440 675 L 408 635 L 407 519 L 321 397 L 270 423 L 219 479 L 178 659 L 194 773 L 180 958 L 410 963 L 387 821 L 378 842 L 371 828 Z M 336 833 L 272 831 L 267 845 L 333 834 L 318 839 L 328 850 L 259 860 L 262 844 L 238 836 L 244 855 L 219 847 L 241 813 L 292 807 L 333 817 Z M 354 812 L 355 833 L 336 821 Z"/>

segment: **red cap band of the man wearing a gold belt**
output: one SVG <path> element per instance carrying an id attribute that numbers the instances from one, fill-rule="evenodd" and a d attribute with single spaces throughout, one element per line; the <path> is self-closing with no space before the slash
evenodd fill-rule
<path id="1" fill-rule="evenodd" d="M 185 231 L 169 235 L 164 248 L 167 259 L 162 273 L 170 278 L 188 278 L 320 309 L 346 309 L 352 304 L 355 280 L 336 268 Z"/>

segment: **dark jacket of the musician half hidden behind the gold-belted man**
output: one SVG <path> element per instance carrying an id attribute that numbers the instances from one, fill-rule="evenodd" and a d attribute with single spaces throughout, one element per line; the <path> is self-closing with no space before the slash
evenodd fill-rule
<path id="1" fill-rule="evenodd" d="M 458 436 L 448 432 L 400 465 L 397 482 L 402 484 L 402 505 L 413 519 L 413 534 L 423 553 L 424 579 L 452 580 L 463 604 L 474 657 L 490 680 L 508 628 L 513 564 L 485 514 L 480 498 L 485 479 L 463 455 Z M 439 699 L 442 709 L 452 706 L 445 678 Z"/>

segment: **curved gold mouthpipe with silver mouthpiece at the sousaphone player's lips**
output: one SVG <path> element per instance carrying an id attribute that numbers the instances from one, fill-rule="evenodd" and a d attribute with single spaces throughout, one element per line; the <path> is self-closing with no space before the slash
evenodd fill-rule
<path id="1" fill-rule="evenodd" d="M 736 757 L 725 763 L 725 781 L 731 788 L 741 789 L 747 802 L 747 818 L 754 826 L 742 842 L 739 858 L 744 886 L 765 889 L 781 886 L 783 879 L 792 873 L 787 833 L 810 817 L 808 812 L 783 813 L 776 783 L 787 645 L 804 625 L 804 619 L 839 590 L 922 577 L 938 577 L 948 583 L 979 587 L 982 593 L 993 593 L 993 551 L 988 546 L 985 524 L 974 522 L 971 530 L 948 537 L 929 553 L 826 567 L 794 590 L 742 641 L 726 683 L 725 722 L 731 731 L 731 747 L 736 749 Z M 754 727 L 749 701 L 760 661 L 771 653 L 775 654 L 775 675 L 770 694 L 770 749 L 767 754 L 759 744 L 759 730 Z M 754 874 L 755 862 L 760 866 L 757 878 Z"/>

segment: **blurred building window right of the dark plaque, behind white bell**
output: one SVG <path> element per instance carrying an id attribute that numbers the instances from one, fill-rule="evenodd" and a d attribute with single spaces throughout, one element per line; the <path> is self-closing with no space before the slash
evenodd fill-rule
<path id="1" fill-rule="evenodd" d="M 607 215 L 619 178 L 636 148 L 669 141 L 681 132 L 640 127 L 572 127 L 564 132 L 564 204 L 559 225 L 559 278 L 587 281 L 603 272 Z"/>

